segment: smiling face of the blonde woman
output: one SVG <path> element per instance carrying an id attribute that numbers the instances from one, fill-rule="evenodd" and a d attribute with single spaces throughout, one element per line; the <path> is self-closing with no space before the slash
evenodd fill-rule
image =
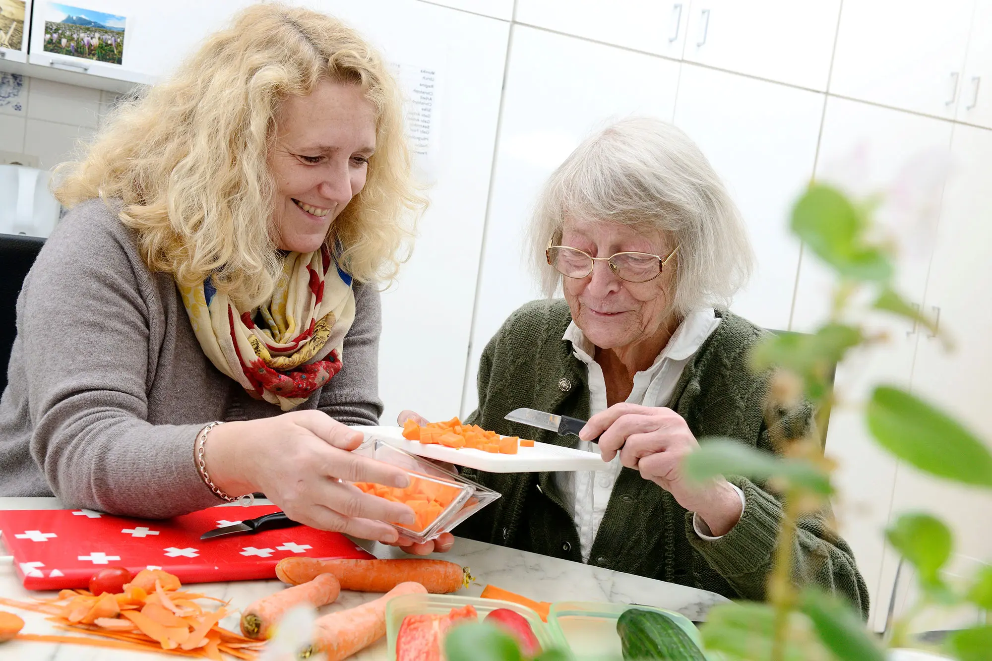
<path id="1" fill-rule="evenodd" d="M 357 84 L 320 82 L 291 96 L 276 116 L 269 153 L 276 179 L 273 231 L 282 250 L 312 252 L 365 186 L 375 151 L 375 108 Z"/>

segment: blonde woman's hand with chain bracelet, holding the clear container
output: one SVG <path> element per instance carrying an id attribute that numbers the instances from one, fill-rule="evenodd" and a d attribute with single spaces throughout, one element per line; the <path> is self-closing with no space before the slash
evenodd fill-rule
<path id="1" fill-rule="evenodd" d="M 413 509 L 339 480 L 404 487 L 410 477 L 402 468 L 352 453 L 361 442 L 361 432 L 325 413 L 294 411 L 215 427 L 205 445 L 206 468 L 225 492 L 262 491 L 294 521 L 395 543 L 399 535 L 385 521 L 413 523 Z"/>

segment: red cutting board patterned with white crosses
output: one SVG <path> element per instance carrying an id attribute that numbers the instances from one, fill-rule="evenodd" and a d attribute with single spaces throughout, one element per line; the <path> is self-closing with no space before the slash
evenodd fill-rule
<path id="1" fill-rule="evenodd" d="M 292 556 L 373 558 L 340 533 L 307 526 L 199 539 L 218 526 L 277 511 L 276 505 L 210 507 L 152 521 L 88 509 L 3 510 L 0 532 L 28 590 L 86 588 L 103 567 L 162 569 L 185 584 L 218 583 L 274 579 L 276 563 Z"/>

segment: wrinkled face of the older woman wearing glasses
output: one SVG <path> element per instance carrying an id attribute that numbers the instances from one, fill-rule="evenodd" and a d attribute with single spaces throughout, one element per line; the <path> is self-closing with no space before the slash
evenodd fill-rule
<path id="1" fill-rule="evenodd" d="M 593 257 L 627 251 L 665 256 L 675 247 L 660 232 L 607 221 L 566 222 L 561 245 Z M 607 262 L 596 261 L 587 277 L 562 278 L 564 298 L 572 320 L 589 341 L 604 349 L 622 348 L 654 336 L 668 323 L 670 273 L 666 268 L 654 280 L 632 283 L 614 275 Z"/>

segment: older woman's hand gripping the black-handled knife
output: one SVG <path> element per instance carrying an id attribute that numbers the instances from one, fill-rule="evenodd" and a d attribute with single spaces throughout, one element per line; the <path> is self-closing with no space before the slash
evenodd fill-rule
<path id="1" fill-rule="evenodd" d="M 597 436 L 604 462 L 619 453 L 620 463 L 672 493 L 682 507 L 702 517 L 714 536 L 726 534 L 740 519 L 740 496 L 727 480 L 700 485 L 682 475 L 682 459 L 699 444 L 672 409 L 614 404 L 579 432 L 584 441 Z"/>

